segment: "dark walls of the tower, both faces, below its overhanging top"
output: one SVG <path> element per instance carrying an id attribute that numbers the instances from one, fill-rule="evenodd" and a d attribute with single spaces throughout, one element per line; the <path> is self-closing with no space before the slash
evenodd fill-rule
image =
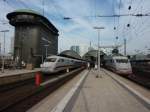
<path id="1" fill-rule="evenodd" d="M 48 44 L 41 38 L 44 37 L 51 41 L 48 47 L 48 54 L 57 54 L 58 36 L 53 34 L 43 25 L 18 25 L 15 27 L 14 58 L 20 57 L 25 63 L 33 63 L 39 67 L 42 62 L 42 56 L 45 58 L 46 49 L 44 45 Z"/>

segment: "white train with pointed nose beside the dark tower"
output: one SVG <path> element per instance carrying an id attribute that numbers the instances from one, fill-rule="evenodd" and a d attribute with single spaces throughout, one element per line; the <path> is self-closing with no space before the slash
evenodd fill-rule
<path id="1" fill-rule="evenodd" d="M 54 55 L 44 60 L 43 64 L 41 64 L 41 71 L 43 73 L 56 73 L 63 70 L 69 72 L 70 69 L 84 66 L 84 63 L 82 60 Z"/>

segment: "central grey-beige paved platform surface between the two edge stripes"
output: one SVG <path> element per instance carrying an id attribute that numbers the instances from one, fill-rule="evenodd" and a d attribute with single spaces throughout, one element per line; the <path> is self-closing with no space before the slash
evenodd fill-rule
<path id="1" fill-rule="evenodd" d="M 91 70 L 74 103 L 72 112 L 149 112 L 135 96 L 112 79 L 105 71 L 102 78 Z"/>

